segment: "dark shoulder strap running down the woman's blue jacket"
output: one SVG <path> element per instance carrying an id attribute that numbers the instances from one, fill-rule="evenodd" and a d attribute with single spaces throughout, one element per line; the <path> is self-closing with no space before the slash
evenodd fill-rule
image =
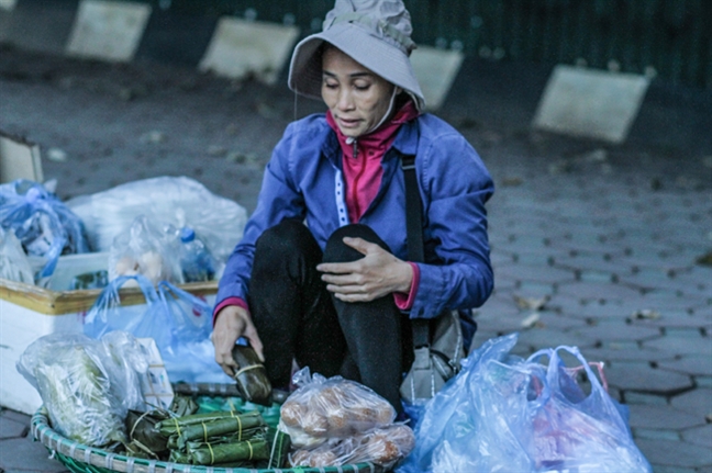
<path id="1" fill-rule="evenodd" d="M 408 237 L 408 259 L 413 262 L 425 261 L 423 248 L 423 203 L 415 174 L 415 156 L 401 156 L 401 168 L 405 180 L 405 229 Z M 413 347 L 430 345 L 430 323 L 427 319 L 411 319 Z"/>

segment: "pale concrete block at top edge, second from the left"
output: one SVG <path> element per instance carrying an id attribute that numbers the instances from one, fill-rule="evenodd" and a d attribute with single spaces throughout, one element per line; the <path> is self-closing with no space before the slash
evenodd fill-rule
<path id="1" fill-rule="evenodd" d="M 138 47 L 151 11 L 151 7 L 143 3 L 81 0 L 66 53 L 130 61 Z"/>

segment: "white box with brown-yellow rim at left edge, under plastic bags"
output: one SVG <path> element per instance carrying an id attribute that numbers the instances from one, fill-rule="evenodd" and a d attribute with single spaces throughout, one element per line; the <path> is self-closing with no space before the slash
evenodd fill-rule
<path id="1" fill-rule="evenodd" d="M 205 296 L 210 304 L 218 292 L 218 281 L 188 283 L 180 288 Z M 100 293 L 101 290 L 53 291 L 0 279 L 1 406 L 25 414 L 37 410 L 42 405 L 40 394 L 18 372 L 15 363 L 27 346 L 42 336 L 81 333 L 84 317 Z M 120 295 L 126 311 L 145 308 L 140 289 L 122 289 Z"/>

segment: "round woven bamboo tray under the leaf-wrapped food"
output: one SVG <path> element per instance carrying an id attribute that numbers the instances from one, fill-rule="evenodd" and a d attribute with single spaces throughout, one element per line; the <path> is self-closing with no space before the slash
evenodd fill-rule
<path id="1" fill-rule="evenodd" d="M 229 396 L 236 390 L 232 385 L 174 385 L 176 392 Z M 208 392 L 207 392 L 208 391 Z M 73 473 L 382 473 L 385 470 L 374 463 L 346 464 L 342 466 L 293 469 L 243 469 L 200 466 L 182 463 L 146 460 L 110 453 L 70 440 L 49 425 L 44 406 L 32 417 L 32 436 L 49 450 L 52 457 Z"/>

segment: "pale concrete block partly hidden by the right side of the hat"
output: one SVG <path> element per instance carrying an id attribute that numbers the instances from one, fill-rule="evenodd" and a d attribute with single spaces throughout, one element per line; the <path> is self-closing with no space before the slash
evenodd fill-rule
<path id="1" fill-rule="evenodd" d="M 437 110 L 445 101 L 459 72 L 464 55 L 459 50 L 418 46 L 411 54 L 413 72 L 425 97 L 425 108 Z"/>

